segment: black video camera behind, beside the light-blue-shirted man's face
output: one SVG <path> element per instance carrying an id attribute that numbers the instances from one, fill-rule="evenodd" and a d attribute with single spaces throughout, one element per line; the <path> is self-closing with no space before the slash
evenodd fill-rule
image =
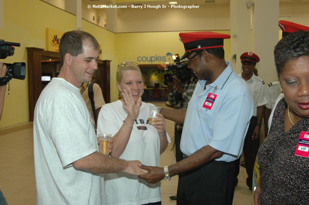
<path id="1" fill-rule="evenodd" d="M 173 75 L 176 76 L 181 81 L 188 81 L 193 76 L 192 70 L 188 69 L 188 63 L 186 61 L 175 62 L 174 64 L 169 64 L 167 66 L 168 70 L 172 70 L 172 73 L 164 75 L 164 84 L 173 82 Z"/>

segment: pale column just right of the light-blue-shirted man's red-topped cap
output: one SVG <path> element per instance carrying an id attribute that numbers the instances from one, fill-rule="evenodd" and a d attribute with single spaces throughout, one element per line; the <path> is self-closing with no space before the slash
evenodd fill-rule
<path id="1" fill-rule="evenodd" d="M 251 10 L 247 0 L 230 0 L 231 58 L 236 54 L 236 63 L 231 60 L 237 73 L 241 72 L 240 55 L 251 50 Z M 230 58 L 230 59 L 231 59 Z"/>

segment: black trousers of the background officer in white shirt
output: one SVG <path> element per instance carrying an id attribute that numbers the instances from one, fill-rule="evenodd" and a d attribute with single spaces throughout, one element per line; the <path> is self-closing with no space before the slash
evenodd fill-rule
<path id="1" fill-rule="evenodd" d="M 254 162 L 260 146 L 259 138 L 256 140 L 252 140 L 252 135 L 256 127 L 256 124 L 257 124 L 257 117 L 252 117 L 243 144 L 243 157 L 246 165 L 246 172 L 248 175 L 246 182 L 249 188 L 252 187 Z"/>

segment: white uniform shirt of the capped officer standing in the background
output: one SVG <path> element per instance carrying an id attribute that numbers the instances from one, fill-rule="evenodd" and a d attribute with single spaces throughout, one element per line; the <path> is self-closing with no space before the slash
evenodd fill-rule
<path id="1" fill-rule="evenodd" d="M 241 73 L 239 74 L 241 78 Z M 253 116 L 257 117 L 257 107 L 267 104 L 267 98 L 265 95 L 264 81 L 254 74 L 249 80 L 246 81 L 254 104 Z"/>

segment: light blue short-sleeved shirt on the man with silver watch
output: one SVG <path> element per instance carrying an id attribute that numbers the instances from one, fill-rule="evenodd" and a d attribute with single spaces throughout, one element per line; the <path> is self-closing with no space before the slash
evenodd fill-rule
<path id="1" fill-rule="evenodd" d="M 230 62 L 221 75 L 206 86 L 200 80 L 190 99 L 183 125 L 180 149 L 191 155 L 204 146 L 224 152 L 216 161 L 231 162 L 239 158 L 253 114 L 253 101 L 245 81 L 233 70 Z M 211 109 L 206 109 L 209 92 L 217 90 Z"/>

